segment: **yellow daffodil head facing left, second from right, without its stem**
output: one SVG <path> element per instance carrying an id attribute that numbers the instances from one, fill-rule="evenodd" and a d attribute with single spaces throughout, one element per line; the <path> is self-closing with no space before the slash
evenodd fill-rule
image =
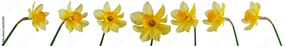
<path id="1" fill-rule="evenodd" d="M 213 32 L 218 30 L 218 27 L 225 22 L 225 18 L 223 17 L 225 12 L 225 4 L 222 3 L 222 8 L 221 6 L 216 3 L 215 1 L 212 4 L 212 9 L 209 9 L 205 12 L 205 15 L 208 19 L 204 19 L 203 23 L 207 25 L 211 25 L 208 29 L 207 32 Z"/>

